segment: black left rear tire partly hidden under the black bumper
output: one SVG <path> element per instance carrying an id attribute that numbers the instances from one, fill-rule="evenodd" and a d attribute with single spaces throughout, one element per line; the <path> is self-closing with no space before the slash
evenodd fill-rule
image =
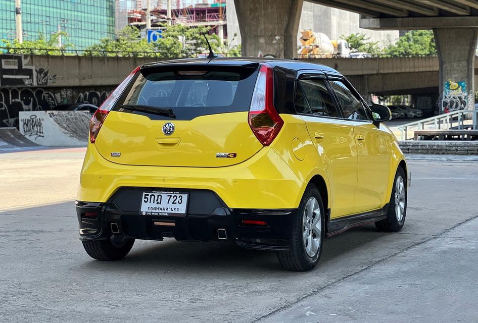
<path id="1" fill-rule="evenodd" d="M 117 237 L 118 236 L 113 236 Z M 123 238 L 121 242 L 112 242 L 112 239 L 82 241 L 86 253 L 93 259 L 113 261 L 123 259 L 131 250 L 134 239 Z"/>

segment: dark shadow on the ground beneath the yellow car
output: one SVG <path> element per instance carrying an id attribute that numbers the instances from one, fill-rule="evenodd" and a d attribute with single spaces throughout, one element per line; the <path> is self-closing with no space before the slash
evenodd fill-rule
<path id="1" fill-rule="evenodd" d="M 320 267 L 336 258 L 364 249 L 366 245 L 387 235 L 377 232 L 374 226 L 355 228 L 341 235 L 326 238 Z M 114 271 L 141 271 L 157 273 L 171 271 L 175 273 L 210 272 L 212 268 L 221 272 L 284 272 L 275 252 L 251 250 L 238 247 L 234 242 L 178 242 L 136 241 L 133 249 L 121 261 L 85 261 L 83 269 L 99 270 L 114 267 Z"/>

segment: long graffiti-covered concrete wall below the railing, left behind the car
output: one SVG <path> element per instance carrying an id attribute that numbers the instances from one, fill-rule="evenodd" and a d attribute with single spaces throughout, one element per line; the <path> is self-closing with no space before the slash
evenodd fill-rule
<path id="1" fill-rule="evenodd" d="M 99 106 L 136 66 L 151 58 L 0 55 L 0 127 L 18 125 L 22 111 L 59 104 Z"/>

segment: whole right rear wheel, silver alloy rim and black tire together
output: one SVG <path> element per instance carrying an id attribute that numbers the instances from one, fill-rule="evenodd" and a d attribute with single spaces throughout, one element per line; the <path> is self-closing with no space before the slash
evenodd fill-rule
<path id="1" fill-rule="evenodd" d="M 314 185 L 309 184 L 294 219 L 290 249 L 277 252 L 279 262 L 286 270 L 306 272 L 317 265 L 325 233 L 324 214 L 320 193 Z"/>

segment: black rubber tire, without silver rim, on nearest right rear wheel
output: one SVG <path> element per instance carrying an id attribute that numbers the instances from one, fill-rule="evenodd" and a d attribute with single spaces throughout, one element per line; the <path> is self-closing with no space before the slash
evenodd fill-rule
<path id="1" fill-rule="evenodd" d="M 306 210 L 307 202 L 312 197 L 315 197 L 320 209 L 321 232 L 318 251 L 315 253 L 315 255 L 310 256 L 309 254 L 307 254 L 306 245 L 303 239 L 305 229 L 305 226 L 303 224 L 303 216 Z M 304 192 L 304 196 L 302 197 L 301 203 L 299 205 L 298 213 L 296 214 L 296 217 L 293 221 L 290 238 L 290 249 L 288 251 L 277 252 L 277 258 L 279 259 L 279 262 L 284 269 L 291 272 L 307 272 L 315 268 L 322 254 L 322 246 L 325 235 L 324 215 L 324 206 L 322 203 L 322 198 L 320 197 L 319 190 L 317 189 L 317 187 L 315 187 L 315 185 L 309 184 Z M 315 214 L 315 216 L 317 216 L 317 214 Z"/>

